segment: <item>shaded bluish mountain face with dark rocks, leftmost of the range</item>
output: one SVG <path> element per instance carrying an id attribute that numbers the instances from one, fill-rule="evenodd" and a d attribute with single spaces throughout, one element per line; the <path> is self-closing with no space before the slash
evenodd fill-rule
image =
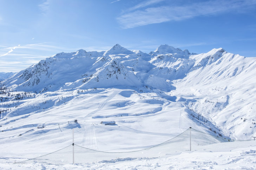
<path id="1" fill-rule="evenodd" d="M 81 55 L 86 54 L 88 56 Z M 87 54 L 85 51 L 74 53 L 59 53 L 53 57 L 46 58 L 25 70 L 20 71 L 14 77 L 5 80 L 2 84 L 20 91 L 47 91 L 58 90 L 67 82 L 81 79 L 86 73 L 96 72 L 91 66 L 99 59 Z M 100 65 L 102 66 L 102 65 Z M 100 67 L 99 66 L 99 67 Z M 93 70 L 94 69 L 94 70 Z"/>

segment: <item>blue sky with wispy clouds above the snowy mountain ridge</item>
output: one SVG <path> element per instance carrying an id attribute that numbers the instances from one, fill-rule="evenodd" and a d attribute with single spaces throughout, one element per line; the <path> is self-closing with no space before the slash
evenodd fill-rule
<path id="1" fill-rule="evenodd" d="M 0 72 L 116 43 L 256 57 L 256 0 L 0 0 Z"/>

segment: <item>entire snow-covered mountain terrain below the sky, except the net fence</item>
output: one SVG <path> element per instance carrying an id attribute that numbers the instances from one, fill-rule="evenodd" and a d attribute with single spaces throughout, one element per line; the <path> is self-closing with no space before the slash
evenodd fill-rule
<path id="1" fill-rule="evenodd" d="M 256 58 L 160 45 L 146 54 L 61 52 L 0 82 L 0 169 L 256 169 L 256 146 L 88 164 L 13 164 L 74 143 L 99 151 L 155 146 L 189 127 L 256 136 Z M 218 147 L 218 146 L 217 146 Z"/>

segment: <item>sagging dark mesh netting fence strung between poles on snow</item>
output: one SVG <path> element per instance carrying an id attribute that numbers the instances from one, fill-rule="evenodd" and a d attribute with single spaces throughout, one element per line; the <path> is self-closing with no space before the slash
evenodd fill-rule
<path id="1" fill-rule="evenodd" d="M 151 148 L 130 152 L 105 152 L 71 144 L 53 153 L 18 163 L 92 163 L 116 162 L 137 158 L 157 158 L 183 151 L 231 151 L 235 148 L 256 146 L 255 140 L 231 140 L 189 128 L 182 134 Z"/>

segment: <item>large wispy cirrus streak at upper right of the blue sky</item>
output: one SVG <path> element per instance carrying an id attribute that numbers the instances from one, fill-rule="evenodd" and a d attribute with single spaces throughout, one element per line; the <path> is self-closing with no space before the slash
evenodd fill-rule
<path id="1" fill-rule="evenodd" d="M 145 8 L 160 1 L 163 0 L 148 0 L 139 3 L 117 17 L 117 21 L 122 28 L 127 29 L 153 23 L 180 21 L 202 15 L 217 15 L 234 10 L 244 12 L 256 6 L 256 0 L 210 0 L 182 6 L 167 5 Z"/>

